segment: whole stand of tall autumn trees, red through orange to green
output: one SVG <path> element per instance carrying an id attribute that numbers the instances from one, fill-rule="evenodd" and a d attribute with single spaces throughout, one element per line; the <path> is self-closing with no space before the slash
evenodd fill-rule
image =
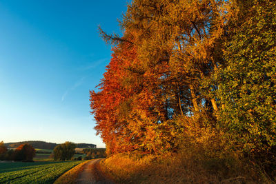
<path id="1" fill-rule="evenodd" d="M 210 145 L 275 161 L 275 1 L 133 0 L 120 26 L 99 28 L 112 58 L 90 91 L 108 154 Z"/>

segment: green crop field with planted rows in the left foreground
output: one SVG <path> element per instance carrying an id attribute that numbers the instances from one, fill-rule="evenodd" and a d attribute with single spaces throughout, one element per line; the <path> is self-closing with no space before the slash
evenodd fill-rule
<path id="1" fill-rule="evenodd" d="M 0 183 L 53 183 L 81 162 L 0 163 Z"/>

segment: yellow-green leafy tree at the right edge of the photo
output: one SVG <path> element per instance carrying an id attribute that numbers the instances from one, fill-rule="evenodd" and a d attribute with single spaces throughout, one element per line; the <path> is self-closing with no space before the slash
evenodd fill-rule
<path id="1" fill-rule="evenodd" d="M 219 86 L 213 95 L 225 107 L 219 123 L 239 149 L 275 154 L 276 3 L 251 1 L 250 6 L 241 12 L 243 19 L 233 22 L 224 43 L 226 65 L 219 66 L 210 83 Z"/>

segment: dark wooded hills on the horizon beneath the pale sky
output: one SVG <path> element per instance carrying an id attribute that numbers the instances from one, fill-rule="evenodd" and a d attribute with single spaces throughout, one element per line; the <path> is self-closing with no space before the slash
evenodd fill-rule
<path id="1" fill-rule="evenodd" d="M 30 144 L 34 148 L 38 149 L 47 149 L 47 150 L 53 150 L 57 145 L 57 143 L 46 143 L 44 141 L 22 141 L 22 142 L 16 142 L 16 143 L 5 143 L 6 147 L 8 148 L 17 148 L 21 144 Z M 86 143 L 78 143 L 76 144 L 77 148 L 96 148 L 97 145 L 94 144 L 86 144 Z"/>

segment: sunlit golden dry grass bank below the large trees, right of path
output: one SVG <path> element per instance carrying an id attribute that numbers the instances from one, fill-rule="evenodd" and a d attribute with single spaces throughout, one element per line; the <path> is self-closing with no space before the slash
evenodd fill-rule
<path id="1" fill-rule="evenodd" d="M 269 183 L 233 158 L 201 159 L 179 154 L 137 159 L 119 154 L 101 162 L 101 167 L 116 183 Z"/>

